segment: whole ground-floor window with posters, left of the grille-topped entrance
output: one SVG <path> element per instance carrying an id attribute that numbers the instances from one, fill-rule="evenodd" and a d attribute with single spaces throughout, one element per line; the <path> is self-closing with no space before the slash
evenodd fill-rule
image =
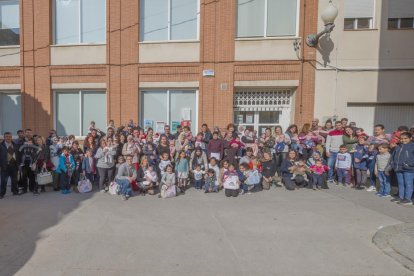
<path id="1" fill-rule="evenodd" d="M 197 131 L 197 91 L 151 90 L 141 91 L 141 124 L 162 132 L 165 124 L 175 131 L 178 124 L 189 124 Z"/>

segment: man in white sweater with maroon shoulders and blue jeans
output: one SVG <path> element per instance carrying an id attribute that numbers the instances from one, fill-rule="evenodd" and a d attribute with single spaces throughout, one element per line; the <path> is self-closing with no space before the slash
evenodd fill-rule
<path id="1" fill-rule="evenodd" d="M 343 143 L 344 128 L 341 121 L 335 122 L 335 130 L 328 133 L 326 138 L 326 157 L 328 157 L 328 182 L 334 182 L 334 168 L 336 162 L 336 156 L 339 152 L 339 147 Z"/>

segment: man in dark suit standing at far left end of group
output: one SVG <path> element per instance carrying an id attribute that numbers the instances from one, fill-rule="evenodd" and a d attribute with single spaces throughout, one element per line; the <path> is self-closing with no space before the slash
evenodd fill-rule
<path id="1" fill-rule="evenodd" d="M 17 172 L 19 171 L 19 147 L 12 141 L 10 132 L 4 133 L 4 141 L 0 144 L 0 199 L 6 194 L 7 181 L 10 178 L 11 191 L 13 195 L 18 195 Z"/>

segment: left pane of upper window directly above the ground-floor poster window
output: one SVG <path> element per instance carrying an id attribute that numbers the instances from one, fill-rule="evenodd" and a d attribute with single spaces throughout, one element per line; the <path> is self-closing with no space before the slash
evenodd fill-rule
<path id="1" fill-rule="evenodd" d="M 168 39 L 168 0 L 141 0 L 141 41 Z"/>

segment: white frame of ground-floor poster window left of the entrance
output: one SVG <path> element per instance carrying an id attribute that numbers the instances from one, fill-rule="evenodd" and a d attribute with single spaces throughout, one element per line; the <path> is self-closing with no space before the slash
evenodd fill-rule
<path id="1" fill-rule="evenodd" d="M 144 118 L 144 108 L 142 108 L 142 104 L 144 102 L 144 93 L 143 92 L 165 92 L 166 93 L 166 105 L 167 105 L 167 119 L 165 121 L 166 124 L 170 125 L 171 124 L 171 91 L 187 91 L 187 92 L 194 92 L 195 93 L 195 98 L 196 98 L 196 103 L 195 103 L 195 107 L 196 110 L 193 112 L 195 119 L 191 120 L 191 122 L 194 122 L 194 127 L 192 126 L 191 128 L 194 128 L 195 132 L 198 131 L 199 127 L 198 127 L 198 123 L 199 123 L 199 118 L 198 118 L 198 112 L 199 112 L 199 88 L 180 88 L 180 87 L 172 87 L 172 88 L 165 88 L 165 87 L 161 87 L 161 88 L 140 88 L 139 89 L 139 93 L 138 93 L 138 116 L 139 116 L 139 123 L 141 124 L 142 127 L 144 127 L 144 120 L 145 119 L 151 119 L 151 118 Z M 170 125 L 171 126 L 171 125 Z M 195 133 L 193 133 L 193 135 L 195 135 Z"/>

